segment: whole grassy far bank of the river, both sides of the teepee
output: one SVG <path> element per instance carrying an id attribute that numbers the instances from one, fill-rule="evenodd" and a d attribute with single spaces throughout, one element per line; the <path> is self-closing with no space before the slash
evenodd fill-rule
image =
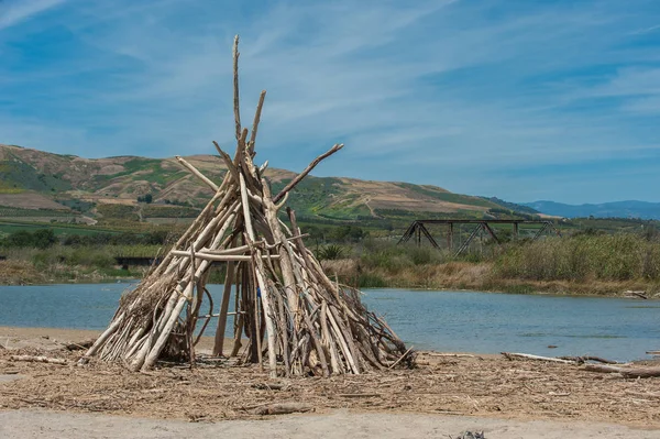
<path id="1" fill-rule="evenodd" d="M 660 241 L 634 233 L 579 234 L 484 245 L 462 257 L 430 248 L 375 239 L 310 245 L 342 283 L 369 287 L 475 289 L 506 293 L 660 294 Z M 141 277 L 146 267 L 120 270 L 114 256 L 153 257 L 158 245 L 61 245 L 4 249 L 1 284 L 107 282 Z M 220 282 L 222 273 L 213 273 Z"/>

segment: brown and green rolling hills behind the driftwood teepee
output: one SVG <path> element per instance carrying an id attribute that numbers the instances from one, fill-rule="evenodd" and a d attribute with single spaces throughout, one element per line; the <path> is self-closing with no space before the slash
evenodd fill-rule
<path id="1" fill-rule="evenodd" d="M 226 173 L 218 156 L 185 158 L 216 182 Z M 274 193 L 295 175 L 277 168 L 265 172 Z M 18 217 L 38 210 L 88 219 L 184 218 L 194 217 L 210 196 L 211 190 L 174 157 L 90 160 L 0 144 L 0 216 L 9 209 Z M 148 204 L 139 202 L 147 198 Z M 453 194 L 437 186 L 314 176 L 289 197 L 300 218 L 327 221 L 410 216 L 483 218 L 494 211 L 517 210 L 516 205 L 496 201 L 501 200 Z M 530 209 L 521 208 L 521 212 L 529 213 Z"/>

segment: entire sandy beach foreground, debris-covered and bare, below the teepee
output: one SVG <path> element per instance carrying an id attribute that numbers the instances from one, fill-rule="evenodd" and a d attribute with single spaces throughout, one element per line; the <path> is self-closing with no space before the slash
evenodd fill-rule
<path id="1" fill-rule="evenodd" d="M 275 389 L 256 366 L 148 374 L 97 361 L 75 366 L 80 351 L 63 345 L 97 333 L 0 327 L 0 438 L 449 438 L 482 429 L 488 439 L 660 438 L 660 378 L 625 380 L 499 355 L 421 353 L 411 371 L 278 380 Z M 69 365 L 11 361 L 16 353 Z M 279 402 L 314 409 L 251 414 Z"/>

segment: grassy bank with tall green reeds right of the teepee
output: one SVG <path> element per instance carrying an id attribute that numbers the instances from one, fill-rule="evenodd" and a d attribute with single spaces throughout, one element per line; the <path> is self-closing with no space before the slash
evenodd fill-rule
<path id="1" fill-rule="evenodd" d="M 336 252 L 337 253 L 337 252 Z M 637 234 L 576 235 L 487 246 L 455 259 L 432 249 L 364 243 L 324 260 L 359 287 L 455 288 L 507 293 L 660 293 L 660 242 Z"/>

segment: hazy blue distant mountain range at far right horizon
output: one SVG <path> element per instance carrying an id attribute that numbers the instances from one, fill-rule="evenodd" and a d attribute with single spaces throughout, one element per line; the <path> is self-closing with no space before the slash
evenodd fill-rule
<path id="1" fill-rule="evenodd" d="M 564 218 L 641 218 L 660 220 L 660 202 L 614 201 L 600 205 L 564 205 L 554 201 L 522 202 L 539 212 Z"/>

